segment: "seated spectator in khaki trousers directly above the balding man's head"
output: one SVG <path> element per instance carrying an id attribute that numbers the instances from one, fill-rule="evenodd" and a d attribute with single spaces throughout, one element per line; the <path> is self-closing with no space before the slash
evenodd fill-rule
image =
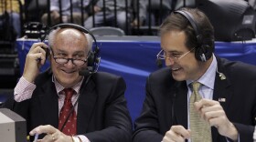
<path id="1" fill-rule="evenodd" d="M 74 23 L 81 25 L 81 9 L 83 13 L 83 19 L 85 20 L 88 17 L 87 11 L 85 11 L 86 7 L 89 5 L 90 0 L 83 0 L 83 5 L 80 4 L 80 0 L 72 0 L 72 4 L 70 5 L 69 0 L 61 1 L 61 15 L 60 18 L 60 6 L 59 0 L 51 0 L 50 1 L 50 17 L 51 17 L 51 25 L 57 25 L 59 23 Z M 71 8 L 71 9 L 70 9 Z M 71 18 L 71 10 L 72 10 L 72 18 Z M 48 25 L 48 13 L 42 15 L 41 17 L 42 23 Z"/>

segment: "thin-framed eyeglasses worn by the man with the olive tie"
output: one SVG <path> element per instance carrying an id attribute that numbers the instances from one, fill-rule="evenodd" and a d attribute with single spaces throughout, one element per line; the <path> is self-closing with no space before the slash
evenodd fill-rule
<path id="1" fill-rule="evenodd" d="M 187 51 L 187 52 L 186 52 L 185 54 L 183 54 L 183 55 L 176 54 L 176 53 L 172 53 L 172 54 L 170 54 L 169 56 L 166 56 L 166 55 L 165 55 L 165 51 L 162 49 L 162 50 L 156 55 L 156 57 L 157 57 L 157 59 L 161 59 L 161 60 L 165 60 L 165 59 L 170 60 L 170 59 L 173 59 L 173 60 L 176 62 L 176 61 L 180 60 L 182 57 L 187 56 L 187 54 L 190 53 L 190 52 L 191 52 L 192 50 L 194 50 L 194 49 L 195 49 L 195 47 L 192 48 L 191 50 Z"/>

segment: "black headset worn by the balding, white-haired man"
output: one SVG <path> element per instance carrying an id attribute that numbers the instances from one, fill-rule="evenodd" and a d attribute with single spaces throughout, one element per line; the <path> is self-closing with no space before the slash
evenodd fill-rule
<path id="1" fill-rule="evenodd" d="M 57 28 L 66 28 L 66 27 L 70 27 L 70 28 L 74 28 L 77 29 L 85 34 L 89 34 L 91 35 L 93 41 L 94 41 L 94 45 L 91 47 L 91 50 L 89 52 L 89 56 L 87 59 L 87 67 L 90 73 L 95 73 L 97 72 L 97 69 L 100 65 L 100 61 L 101 61 L 101 56 L 100 56 L 100 47 L 97 45 L 97 41 L 95 36 L 91 33 L 90 30 L 86 29 L 85 27 L 81 26 L 81 25 L 75 25 L 75 24 L 59 24 L 59 25 L 54 25 L 52 27 L 50 27 L 48 29 L 48 32 L 46 32 L 45 35 L 41 36 L 41 41 L 43 42 L 46 39 L 46 36 L 54 29 Z"/>

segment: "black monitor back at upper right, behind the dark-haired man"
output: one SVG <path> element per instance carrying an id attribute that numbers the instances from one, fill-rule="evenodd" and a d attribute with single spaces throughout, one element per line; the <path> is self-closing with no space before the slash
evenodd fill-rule
<path id="1" fill-rule="evenodd" d="M 244 0 L 197 0 L 214 26 L 217 41 L 244 41 L 255 37 L 255 11 Z"/>

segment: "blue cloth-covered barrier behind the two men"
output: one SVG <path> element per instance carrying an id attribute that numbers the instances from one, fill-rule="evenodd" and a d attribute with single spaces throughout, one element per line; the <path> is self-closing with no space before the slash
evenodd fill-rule
<path id="1" fill-rule="evenodd" d="M 127 84 L 125 96 L 132 118 L 138 117 L 143 105 L 146 76 L 157 70 L 156 54 L 160 39 L 156 36 L 97 36 L 101 47 L 100 71 L 123 76 Z M 21 73 L 30 46 L 38 40 L 18 39 L 16 48 Z M 216 42 L 217 56 L 256 65 L 256 42 Z M 48 64 L 42 68 L 44 70 Z"/>

